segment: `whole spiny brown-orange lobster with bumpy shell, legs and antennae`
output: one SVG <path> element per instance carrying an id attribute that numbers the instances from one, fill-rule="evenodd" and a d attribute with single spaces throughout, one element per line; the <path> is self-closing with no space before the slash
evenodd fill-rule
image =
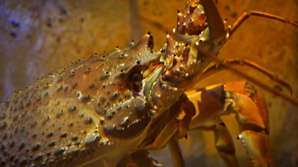
<path id="1" fill-rule="evenodd" d="M 177 140 L 189 129 L 203 127 L 214 131 L 218 152 L 235 166 L 231 136 L 220 119 L 234 113 L 239 139 L 253 164 L 272 166 L 268 112 L 259 91 L 245 80 L 192 89 L 227 65 L 244 64 L 290 90 L 286 82 L 250 61 L 218 61 L 221 47 L 250 15 L 297 26 L 251 11 L 230 27 L 213 1 L 188 1 L 160 50 L 153 51 L 154 40 L 147 33 L 124 50 L 78 60 L 14 93 L 0 106 L 1 164 L 157 165 L 145 149 L 169 143 L 176 149 L 175 163 L 182 165 Z M 212 62 L 217 64 L 209 67 Z"/>

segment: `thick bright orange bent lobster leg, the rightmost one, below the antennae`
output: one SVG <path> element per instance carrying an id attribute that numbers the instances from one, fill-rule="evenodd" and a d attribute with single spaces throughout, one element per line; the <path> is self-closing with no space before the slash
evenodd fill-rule
<path id="1" fill-rule="evenodd" d="M 187 95 L 196 109 L 190 128 L 204 127 L 206 122 L 215 122 L 222 115 L 235 113 L 240 131 L 238 138 L 242 140 L 253 165 L 273 166 L 268 139 L 269 122 L 266 103 L 263 96 L 245 80 L 190 91 Z M 229 137 L 225 137 L 228 136 L 226 129 L 219 125 L 216 125 L 219 131 L 214 130 L 217 135 L 221 135 L 216 143 L 224 143 L 224 146 L 232 150 Z M 222 157 L 225 159 L 224 156 Z M 226 159 L 225 161 L 227 162 Z"/>

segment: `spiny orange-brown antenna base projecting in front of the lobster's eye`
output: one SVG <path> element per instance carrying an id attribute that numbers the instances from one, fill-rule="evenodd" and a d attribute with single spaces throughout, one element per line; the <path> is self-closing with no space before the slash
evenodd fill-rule
<path id="1" fill-rule="evenodd" d="M 213 1 L 187 1 L 185 12 L 178 11 L 177 27 L 167 35 L 160 77 L 152 93 L 145 92 L 151 109 L 164 111 L 197 83 L 228 39 L 228 28 Z"/>

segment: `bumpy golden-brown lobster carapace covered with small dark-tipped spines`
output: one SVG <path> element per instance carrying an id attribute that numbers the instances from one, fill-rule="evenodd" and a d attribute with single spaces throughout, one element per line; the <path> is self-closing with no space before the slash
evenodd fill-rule
<path id="1" fill-rule="evenodd" d="M 151 117 L 126 73 L 154 68 L 152 47 L 146 34 L 135 46 L 78 60 L 14 93 L 0 106 L 1 164 L 75 165 L 105 159 L 113 150 L 107 147 L 131 144 L 125 138 L 140 142 Z"/>

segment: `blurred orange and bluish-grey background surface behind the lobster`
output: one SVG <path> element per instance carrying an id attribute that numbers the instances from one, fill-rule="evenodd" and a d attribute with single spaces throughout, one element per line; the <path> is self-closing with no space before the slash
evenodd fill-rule
<path id="1" fill-rule="evenodd" d="M 0 0 L 0 99 L 24 89 L 45 73 L 89 57 L 125 48 L 151 31 L 155 49 L 165 42 L 177 22 L 177 10 L 184 11 L 185 1 L 162 0 Z M 229 24 L 244 10 L 258 10 L 298 20 L 298 1 L 266 0 L 218 1 L 218 9 Z M 298 28 L 277 21 L 252 17 L 225 44 L 220 58 L 245 58 L 273 71 L 286 80 L 298 97 Z M 246 67 L 239 70 L 278 88 L 266 76 Z M 220 72 L 199 83 L 200 87 L 219 82 L 245 79 L 233 72 Z M 258 86 L 256 86 L 258 87 Z M 298 166 L 298 107 L 272 93 L 264 93 L 270 114 L 270 143 L 276 166 Z M 284 90 L 285 93 L 288 93 Z M 235 140 L 241 166 L 250 166 L 238 135 L 234 115 L 225 123 Z M 214 147 L 211 132 L 190 131 L 181 141 L 187 166 L 224 166 Z M 154 151 L 154 157 L 171 166 L 167 148 Z M 168 155 L 168 156 L 167 156 Z"/>

